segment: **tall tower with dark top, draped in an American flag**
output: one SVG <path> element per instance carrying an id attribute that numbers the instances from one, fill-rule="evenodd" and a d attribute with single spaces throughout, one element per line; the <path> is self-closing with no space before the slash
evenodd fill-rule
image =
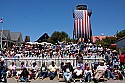
<path id="1" fill-rule="evenodd" d="M 73 11 L 74 18 L 74 39 L 83 39 L 84 42 L 91 40 L 92 30 L 90 17 L 92 10 L 88 10 L 86 5 L 78 5 Z"/>

